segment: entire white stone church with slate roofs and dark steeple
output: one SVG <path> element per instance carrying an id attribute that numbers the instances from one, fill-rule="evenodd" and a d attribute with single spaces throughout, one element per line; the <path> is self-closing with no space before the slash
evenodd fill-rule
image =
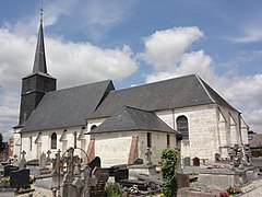
<path id="1" fill-rule="evenodd" d="M 199 76 L 115 90 L 110 80 L 56 90 L 47 72 L 40 21 L 33 72 L 22 79 L 19 125 L 14 127 L 14 154 L 39 159 L 70 147 L 86 162 L 100 157 L 103 166 L 152 161 L 160 151 L 177 147 L 181 158 L 215 155 L 229 159 L 234 144 L 248 143 L 248 126 L 241 114 Z"/>

